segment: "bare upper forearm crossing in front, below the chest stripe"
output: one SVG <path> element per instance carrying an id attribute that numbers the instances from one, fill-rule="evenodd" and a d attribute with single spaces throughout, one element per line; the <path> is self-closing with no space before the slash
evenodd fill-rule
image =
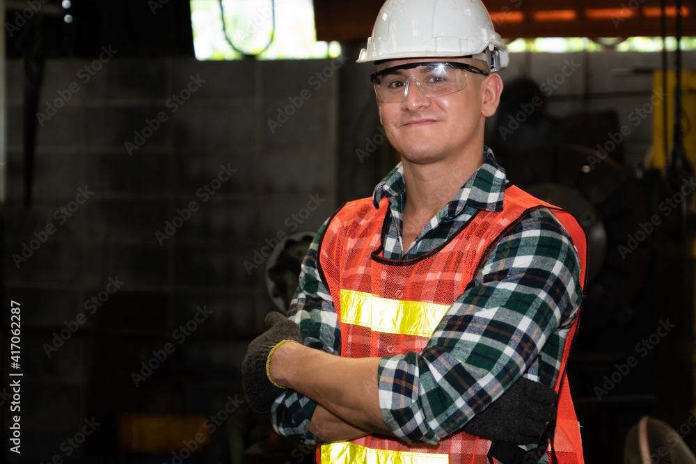
<path id="1" fill-rule="evenodd" d="M 391 435 L 379 408 L 379 359 L 342 358 L 286 343 L 274 352 L 270 372 L 279 385 L 313 399 L 356 429 Z"/>

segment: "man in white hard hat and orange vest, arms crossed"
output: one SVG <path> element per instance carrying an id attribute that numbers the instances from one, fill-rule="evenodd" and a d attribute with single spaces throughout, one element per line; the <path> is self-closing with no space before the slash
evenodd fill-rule
<path id="1" fill-rule="evenodd" d="M 358 62 L 377 64 L 381 123 L 402 163 L 324 223 L 290 320 L 267 319 L 243 366 L 252 405 L 280 433 L 325 442 L 322 463 L 536 462 L 548 438 L 549 458 L 583 462 L 564 367 L 585 236 L 506 186 L 484 147 L 507 61 L 479 0 L 381 8 Z M 520 393 L 539 384 L 561 392 L 544 439 L 515 429 L 541 417 Z M 490 440 L 535 442 L 525 454 Z"/>

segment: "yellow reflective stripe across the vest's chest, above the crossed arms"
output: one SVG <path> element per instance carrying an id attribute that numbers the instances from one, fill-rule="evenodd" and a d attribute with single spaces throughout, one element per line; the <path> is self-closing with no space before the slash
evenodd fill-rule
<path id="1" fill-rule="evenodd" d="M 374 332 L 432 337 L 448 305 L 381 298 L 363 291 L 341 289 L 341 322 L 369 327 Z"/>

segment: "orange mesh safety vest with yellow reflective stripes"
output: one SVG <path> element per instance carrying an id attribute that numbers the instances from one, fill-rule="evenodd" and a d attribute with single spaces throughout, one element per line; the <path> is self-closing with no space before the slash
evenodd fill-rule
<path id="1" fill-rule="evenodd" d="M 505 190 L 503 211 L 479 211 L 452 239 L 413 259 L 382 257 L 388 202 L 383 198 L 379 209 L 371 198 L 347 203 L 330 221 L 319 248 L 319 269 L 340 321 L 342 356 L 421 353 L 448 307 L 464 293 L 500 237 L 541 207 L 551 209 L 571 235 L 584 286 L 587 239 L 583 228 L 571 214 L 515 186 Z M 559 399 L 555 433 L 547 451 L 551 463 L 584 463 L 580 426 L 565 375 L 577 325 L 578 318 L 569 328 L 561 381 L 555 386 Z M 395 438 L 367 435 L 321 445 L 317 463 L 488 464 L 490 447 L 489 440 L 464 432 L 454 433 L 438 445 L 408 445 Z"/>

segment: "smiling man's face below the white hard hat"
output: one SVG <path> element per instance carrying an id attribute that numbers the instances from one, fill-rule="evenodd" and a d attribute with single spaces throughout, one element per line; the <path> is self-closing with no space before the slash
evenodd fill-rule
<path id="1" fill-rule="evenodd" d="M 377 70 L 426 61 L 454 61 L 487 70 L 484 62 L 470 58 L 393 60 L 381 63 Z M 409 77 L 422 79 L 422 70 L 419 73 L 418 68 L 397 72 L 403 80 Z M 408 95 L 402 102 L 385 103 L 378 100 L 379 117 L 390 143 L 404 160 L 413 163 L 456 157 L 471 144 L 482 145 L 484 116 L 492 115 L 486 103 L 486 83 L 489 79 L 491 77 L 466 72 L 466 88 L 441 97 L 426 97 L 411 79 Z M 496 75 L 494 79 L 499 77 Z"/>

